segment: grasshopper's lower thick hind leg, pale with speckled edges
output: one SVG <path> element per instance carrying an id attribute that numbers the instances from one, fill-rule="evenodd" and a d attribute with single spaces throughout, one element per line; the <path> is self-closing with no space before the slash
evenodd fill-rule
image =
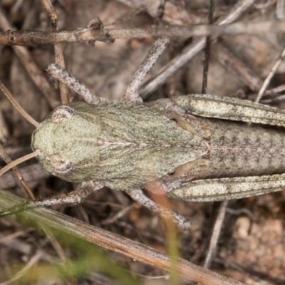
<path id="1" fill-rule="evenodd" d="M 285 189 L 285 174 L 232 177 L 184 182 L 167 196 L 192 202 L 222 201 L 262 195 Z"/>

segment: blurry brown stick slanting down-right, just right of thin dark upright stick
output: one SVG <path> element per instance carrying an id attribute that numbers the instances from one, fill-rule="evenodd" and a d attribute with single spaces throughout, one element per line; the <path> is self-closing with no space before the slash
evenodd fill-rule
<path id="1" fill-rule="evenodd" d="M 257 76 L 245 63 L 243 63 L 237 56 L 229 51 L 219 41 L 215 43 L 212 53 L 218 59 L 218 61 L 225 66 L 229 71 L 234 71 L 239 76 L 239 80 L 242 81 L 253 91 L 258 91 L 262 85 L 261 78 Z"/>

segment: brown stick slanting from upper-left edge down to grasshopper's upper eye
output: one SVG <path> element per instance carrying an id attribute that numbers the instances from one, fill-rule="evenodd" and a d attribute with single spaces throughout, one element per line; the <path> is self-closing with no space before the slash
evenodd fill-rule
<path id="1" fill-rule="evenodd" d="M 9 23 L 6 16 L 4 16 L 4 12 L 1 9 L 1 6 L 0 28 L 4 31 L 14 29 Z M 58 100 L 56 100 L 56 93 L 54 92 L 53 88 L 51 88 L 46 78 L 43 76 L 41 69 L 38 68 L 36 63 L 33 61 L 33 58 L 31 57 L 30 53 L 28 53 L 28 50 L 23 46 L 13 46 L 13 49 L 16 53 L 16 56 L 19 57 L 27 73 L 29 76 L 31 76 L 33 83 L 36 84 L 38 90 L 40 90 L 43 96 L 46 98 L 48 104 L 51 105 L 51 108 L 56 108 L 59 105 Z"/>

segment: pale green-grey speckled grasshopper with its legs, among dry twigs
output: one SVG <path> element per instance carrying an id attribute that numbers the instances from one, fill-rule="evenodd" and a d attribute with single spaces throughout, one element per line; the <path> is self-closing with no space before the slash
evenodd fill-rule
<path id="1" fill-rule="evenodd" d="M 123 99 L 113 102 L 90 94 L 60 67 L 48 68 L 87 103 L 61 105 L 37 124 L 33 156 L 51 175 L 82 183 L 66 197 L 28 202 L 24 208 L 79 203 L 107 186 L 159 212 L 142 193 L 157 179 L 167 196 L 185 201 L 239 199 L 284 189 L 285 133 L 240 123 L 285 127 L 284 110 L 199 94 L 142 103 L 140 83 L 168 41 L 155 42 Z M 190 227 L 179 214 L 175 220 L 183 229 Z"/>

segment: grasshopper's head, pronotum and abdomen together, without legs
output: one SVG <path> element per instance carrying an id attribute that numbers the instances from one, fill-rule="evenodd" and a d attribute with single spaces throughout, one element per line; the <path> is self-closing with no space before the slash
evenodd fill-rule
<path id="1" fill-rule="evenodd" d="M 64 180 L 95 180 L 130 190 L 157 177 L 185 182 L 285 170 L 285 135 L 274 130 L 130 100 L 69 106 L 74 110 L 70 118 L 58 121 L 55 110 L 32 140 L 33 150 L 41 150 L 43 167 Z M 56 169 L 54 157 L 68 171 Z"/>

